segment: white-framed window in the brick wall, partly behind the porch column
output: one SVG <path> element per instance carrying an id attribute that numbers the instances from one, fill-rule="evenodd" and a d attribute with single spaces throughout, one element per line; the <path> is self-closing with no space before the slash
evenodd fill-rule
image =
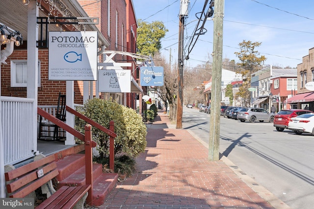
<path id="1" fill-rule="evenodd" d="M 40 86 L 40 61 L 38 61 L 38 86 Z M 27 87 L 27 60 L 11 60 L 11 87 Z"/>

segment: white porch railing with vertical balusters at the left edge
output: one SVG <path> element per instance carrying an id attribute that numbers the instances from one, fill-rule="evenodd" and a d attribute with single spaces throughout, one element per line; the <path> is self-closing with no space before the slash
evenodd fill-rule
<path id="1" fill-rule="evenodd" d="M 34 156 L 34 139 L 31 131 L 34 99 L 1 96 L 1 125 L 4 165 L 22 162 Z"/>

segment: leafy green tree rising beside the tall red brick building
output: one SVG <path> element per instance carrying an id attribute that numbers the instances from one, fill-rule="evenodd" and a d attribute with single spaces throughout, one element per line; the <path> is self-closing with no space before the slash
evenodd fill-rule
<path id="1" fill-rule="evenodd" d="M 168 31 L 160 21 L 147 23 L 138 20 L 136 45 L 138 52 L 142 55 L 154 55 L 161 49 L 160 40 Z"/>

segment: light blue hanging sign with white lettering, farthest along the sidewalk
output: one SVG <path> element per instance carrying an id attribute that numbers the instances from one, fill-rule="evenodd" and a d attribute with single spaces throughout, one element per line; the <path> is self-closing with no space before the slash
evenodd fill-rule
<path id="1" fill-rule="evenodd" d="M 163 86 L 163 68 L 146 66 L 140 68 L 141 86 Z"/>

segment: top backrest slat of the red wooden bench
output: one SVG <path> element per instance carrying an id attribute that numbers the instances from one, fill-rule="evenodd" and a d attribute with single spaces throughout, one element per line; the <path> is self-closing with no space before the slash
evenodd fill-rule
<path id="1" fill-rule="evenodd" d="M 4 174 L 5 181 L 10 181 L 12 179 L 23 176 L 26 173 L 44 165 L 44 164 L 51 163 L 52 161 L 55 161 L 54 155 L 49 155 L 48 157 L 45 157 L 45 158 L 40 159 L 38 161 L 34 161 L 34 162 L 28 163 L 26 165 L 23 165 L 22 167 L 11 170 L 11 171 Z"/>

